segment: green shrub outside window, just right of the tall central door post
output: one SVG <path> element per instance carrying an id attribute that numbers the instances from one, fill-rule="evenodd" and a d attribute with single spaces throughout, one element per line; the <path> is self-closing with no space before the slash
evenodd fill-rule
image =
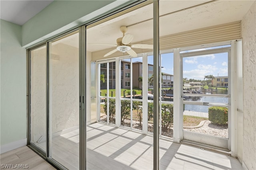
<path id="1" fill-rule="evenodd" d="M 173 104 L 162 104 L 161 125 L 163 131 L 167 131 L 173 124 Z"/>

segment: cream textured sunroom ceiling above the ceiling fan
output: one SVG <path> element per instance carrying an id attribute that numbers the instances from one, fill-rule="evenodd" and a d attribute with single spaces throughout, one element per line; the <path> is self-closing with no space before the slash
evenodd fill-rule
<path id="1" fill-rule="evenodd" d="M 160 36 L 242 20 L 252 3 L 247 0 L 160 0 L 160 16 L 168 14 L 160 17 Z M 134 35 L 132 42 L 153 38 L 152 11 L 150 4 L 87 29 L 88 51 L 110 48 L 90 43 L 116 44 L 116 39 L 122 37 L 119 29 L 122 25 L 128 26 L 127 33 Z"/>

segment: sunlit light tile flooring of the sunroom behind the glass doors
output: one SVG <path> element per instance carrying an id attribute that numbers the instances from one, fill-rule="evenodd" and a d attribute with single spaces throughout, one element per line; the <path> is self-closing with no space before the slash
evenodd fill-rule
<path id="1" fill-rule="evenodd" d="M 87 129 L 86 169 L 152 170 L 153 137 L 94 123 Z M 241 170 L 236 158 L 200 148 L 159 141 L 160 170 Z M 68 169 L 78 168 L 78 131 L 53 139 L 52 157 Z"/>

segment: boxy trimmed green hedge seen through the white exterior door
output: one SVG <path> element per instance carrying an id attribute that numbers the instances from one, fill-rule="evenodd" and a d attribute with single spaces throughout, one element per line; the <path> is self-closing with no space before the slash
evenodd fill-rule
<path id="1" fill-rule="evenodd" d="M 226 107 L 209 107 L 209 121 L 217 125 L 225 125 L 228 122 L 228 108 Z"/>

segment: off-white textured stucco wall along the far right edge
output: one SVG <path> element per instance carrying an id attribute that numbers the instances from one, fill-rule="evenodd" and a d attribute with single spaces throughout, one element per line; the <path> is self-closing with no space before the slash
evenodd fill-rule
<path id="1" fill-rule="evenodd" d="M 256 169 L 256 2 L 242 20 L 243 38 L 243 166 Z M 239 145 L 239 143 L 238 143 Z"/>

